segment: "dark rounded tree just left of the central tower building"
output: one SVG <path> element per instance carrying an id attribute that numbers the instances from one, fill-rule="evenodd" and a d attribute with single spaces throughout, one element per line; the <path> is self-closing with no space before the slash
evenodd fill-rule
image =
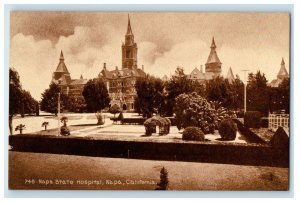
<path id="1" fill-rule="evenodd" d="M 110 98 L 106 85 L 102 79 L 91 79 L 85 84 L 82 95 L 85 99 L 88 112 L 100 112 L 105 107 L 109 106 Z M 97 116 L 99 117 L 99 116 Z M 101 120 L 98 119 L 98 123 Z"/>

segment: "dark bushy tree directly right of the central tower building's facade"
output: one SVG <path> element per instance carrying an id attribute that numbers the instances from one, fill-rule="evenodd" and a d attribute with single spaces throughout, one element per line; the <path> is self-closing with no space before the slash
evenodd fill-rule
<path id="1" fill-rule="evenodd" d="M 161 113 L 163 104 L 163 81 L 147 75 L 136 81 L 137 97 L 135 106 L 143 117 L 151 117 L 153 113 Z"/>

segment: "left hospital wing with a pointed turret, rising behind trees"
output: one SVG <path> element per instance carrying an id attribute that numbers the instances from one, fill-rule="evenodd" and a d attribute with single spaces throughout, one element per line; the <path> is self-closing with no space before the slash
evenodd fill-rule
<path id="1" fill-rule="evenodd" d="M 61 51 L 59 63 L 52 75 L 52 82 L 59 84 L 62 93 L 73 97 L 76 100 L 83 99 L 82 91 L 87 79 L 83 79 L 82 75 L 79 79 L 72 79 L 69 70 L 65 64 L 63 52 Z"/>

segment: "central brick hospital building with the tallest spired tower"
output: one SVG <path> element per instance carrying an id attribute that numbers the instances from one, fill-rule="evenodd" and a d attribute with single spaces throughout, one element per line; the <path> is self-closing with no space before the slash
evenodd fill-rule
<path id="1" fill-rule="evenodd" d="M 114 70 L 108 70 L 104 63 L 103 69 L 99 73 L 99 77 L 106 82 L 111 98 L 110 105 L 117 104 L 125 111 L 134 111 L 135 82 L 137 78 L 146 76 L 143 66 L 138 68 L 137 52 L 138 48 L 134 42 L 128 16 L 125 43 L 122 44 L 122 69 L 115 67 Z"/>

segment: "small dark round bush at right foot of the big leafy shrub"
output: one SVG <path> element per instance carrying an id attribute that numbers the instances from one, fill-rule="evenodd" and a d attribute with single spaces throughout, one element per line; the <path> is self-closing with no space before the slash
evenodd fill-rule
<path id="1" fill-rule="evenodd" d="M 237 126 L 232 119 L 224 119 L 219 125 L 219 133 L 224 140 L 236 138 Z"/>

